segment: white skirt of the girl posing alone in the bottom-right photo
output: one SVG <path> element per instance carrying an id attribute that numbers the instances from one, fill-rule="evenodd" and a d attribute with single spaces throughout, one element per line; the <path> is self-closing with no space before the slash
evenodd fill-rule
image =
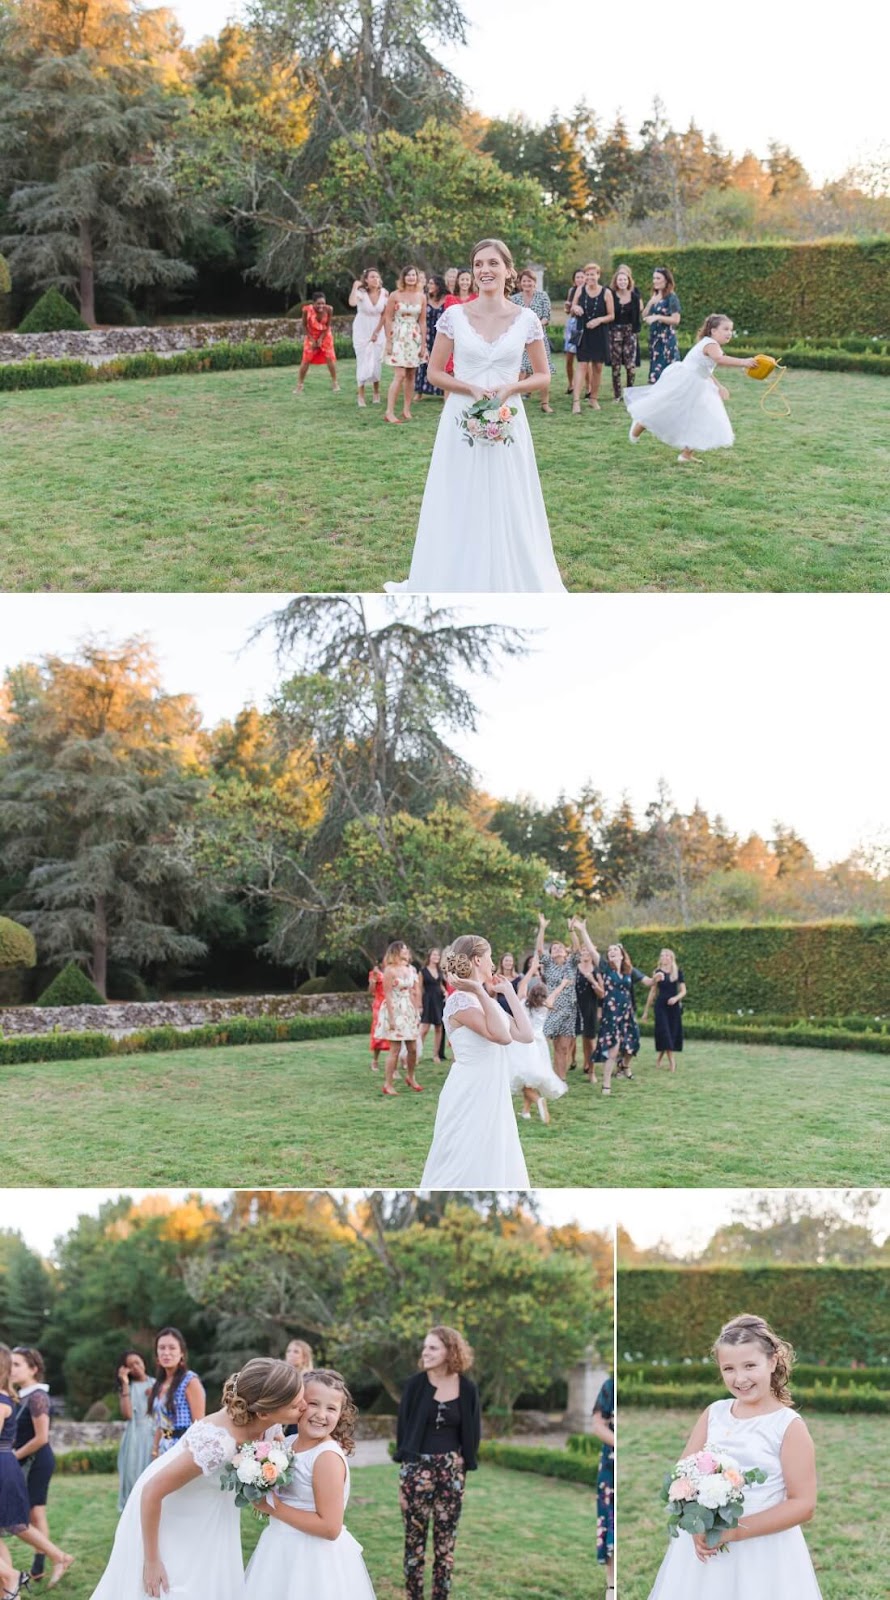
<path id="1" fill-rule="evenodd" d="M 727 1546 L 700 1562 L 688 1533 L 672 1539 L 648 1600 L 821 1600 L 800 1528 Z"/>

